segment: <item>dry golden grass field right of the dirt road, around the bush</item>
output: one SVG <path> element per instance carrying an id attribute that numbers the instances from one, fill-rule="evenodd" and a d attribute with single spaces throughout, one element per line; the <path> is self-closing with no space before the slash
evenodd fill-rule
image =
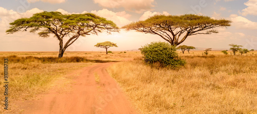
<path id="1" fill-rule="evenodd" d="M 178 70 L 137 58 L 108 72 L 142 113 L 257 113 L 256 54 L 194 53 L 180 54 L 187 64 Z"/>

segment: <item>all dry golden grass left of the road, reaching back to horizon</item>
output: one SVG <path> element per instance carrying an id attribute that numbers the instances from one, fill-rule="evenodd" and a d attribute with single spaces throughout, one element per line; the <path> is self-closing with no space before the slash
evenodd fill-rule
<path id="1" fill-rule="evenodd" d="M 82 67 L 102 62 L 121 61 L 139 52 L 106 55 L 104 52 L 66 52 L 63 58 L 57 58 L 58 52 L 1 52 L 0 63 L 8 58 L 9 96 L 13 100 L 31 99 L 36 94 L 48 90 L 54 81 L 65 74 Z M 4 66 L 0 66 L 0 74 L 4 75 Z M 0 80 L 3 86 L 4 78 Z M 3 91 L 3 87 L 0 91 Z M 4 92 L 0 94 L 4 100 Z M 3 108 L 1 108 L 3 109 Z"/>

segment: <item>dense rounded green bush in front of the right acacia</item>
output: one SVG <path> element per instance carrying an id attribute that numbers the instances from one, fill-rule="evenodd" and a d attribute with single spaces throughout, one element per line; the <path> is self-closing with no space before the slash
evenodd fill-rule
<path id="1" fill-rule="evenodd" d="M 185 60 L 178 57 L 176 47 L 164 42 L 146 44 L 142 46 L 141 53 L 145 63 L 151 66 L 175 68 L 186 64 Z"/>

